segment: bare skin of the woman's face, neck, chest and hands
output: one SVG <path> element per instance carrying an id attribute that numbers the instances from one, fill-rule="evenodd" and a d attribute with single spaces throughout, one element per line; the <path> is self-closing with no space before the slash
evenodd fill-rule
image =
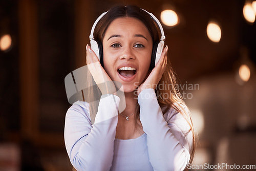
<path id="1" fill-rule="evenodd" d="M 102 41 L 104 68 L 100 65 L 98 57 L 87 45 L 87 65 L 95 82 L 102 85 L 108 82 L 108 86 L 99 86 L 102 94 L 115 94 L 114 83 L 119 81 L 125 94 L 126 108 L 123 115 L 129 116 L 135 112 L 137 105 L 136 96 L 145 89 L 156 89 L 167 63 L 168 47 L 163 49 L 161 57 L 152 71 L 148 71 L 151 61 L 153 40 L 150 32 L 140 20 L 132 17 L 121 17 L 115 19 L 105 32 Z M 134 67 L 136 74 L 132 80 L 127 81 L 120 77 L 120 67 Z M 134 119 L 134 115 L 129 117 Z M 142 129 L 136 129 L 134 122 L 118 115 L 116 138 L 134 139 L 142 135 Z"/>

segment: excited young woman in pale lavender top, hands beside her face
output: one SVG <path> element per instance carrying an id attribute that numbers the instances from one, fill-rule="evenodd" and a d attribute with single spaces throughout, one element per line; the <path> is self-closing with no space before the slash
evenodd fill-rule
<path id="1" fill-rule="evenodd" d="M 99 20 L 93 35 L 103 63 L 87 45 L 87 65 L 102 97 L 94 123 L 87 102 L 77 101 L 67 112 L 65 143 L 74 168 L 186 169 L 194 156 L 193 124 L 175 87 L 167 46 L 150 69 L 160 41 L 156 21 L 138 7 L 117 6 Z M 112 81 L 122 84 L 126 108 L 121 113 Z"/>

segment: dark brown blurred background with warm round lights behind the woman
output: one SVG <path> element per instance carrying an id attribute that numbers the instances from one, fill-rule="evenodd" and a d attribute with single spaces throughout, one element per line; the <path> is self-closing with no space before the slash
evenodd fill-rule
<path id="1" fill-rule="evenodd" d="M 255 164 L 256 1 L 2 0 L 0 170 L 72 169 L 64 78 L 86 65 L 91 27 L 116 4 L 138 5 L 164 28 L 198 134 L 194 164 Z"/>

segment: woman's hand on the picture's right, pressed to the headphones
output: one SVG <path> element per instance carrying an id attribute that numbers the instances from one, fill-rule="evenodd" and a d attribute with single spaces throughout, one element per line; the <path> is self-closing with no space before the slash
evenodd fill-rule
<path id="1" fill-rule="evenodd" d="M 137 95 L 140 94 L 142 90 L 145 89 L 156 89 L 158 82 L 162 78 L 163 72 L 165 71 L 166 63 L 167 63 L 167 52 L 168 46 L 163 49 L 161 57 L 157 62 L 156 67 L 151 71 L 146 80 L 140 84 L 137 89 Z"/>

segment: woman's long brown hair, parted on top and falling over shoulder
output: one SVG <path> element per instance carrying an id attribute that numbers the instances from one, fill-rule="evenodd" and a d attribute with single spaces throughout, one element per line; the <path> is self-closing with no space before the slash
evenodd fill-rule
<path id="1" fill-rule="evenodd" d="M 141 10 L 139 7 L 136 6 L 115 6 L 109 10 L 108 13 L 106 13 L 98 22 L 98 24 L 95 27 L 94 30 L 94 39 L 98 42 L 102 42 L 105 32 L 110 26 L 110 24 L 113 22 L 114 19 L 120 18 L 120 17 L 133 17 L 136 19 L 139 19 L 148 29 L 150 32 L 152 39 L 153 39 L 153 45 L 156 42 L 160 41 L 160 31 L 155 23 L 155 21 L 151 18 L 150 14 L 147 12 Z M 195 153 L 195 134 L 194 134 L 194 128 L 193 123 L 191 121 L 191 114 L 189 111 L 185 111 L 182 108 L 182 105 L 185 105 L 185 102 L 182 100 L 182 97 L 179 93 L 179 90 L 177 89 L 177 81 L 175 74 L 172 70 L 172 67 L 170 66 L 170 62 L 167 62 L 166 70 L 164 71 L 162 78 L 160 80 L 160 83 L 163 84 L 164 87 L 168 87 L 168 89 L 156 89 L 155 92 L 158 96 L 158 103 L 160 106 L 167 106 L 166 110 L 163 112 L 165 114 L 170 108 L 174 108 L 178 112 L 180 112 L 183 117 L 187 120 L 190 130 L 187 132 L 187 134 L 191 131 L 193 134 L 193 150 L 191 152 L 190 161 L 192 162 L 194 153 Z M 162 97 L 161 94 L 168 95 L 167 98 Z M 97 110 L 97 109 L 96 109 Z M 94 112 L 96 112 L 94 110 Z M 139 105 L 136 106 L 136 113 L 134 117 L 135 125 L 142 126 L 139 119 Z"/>

